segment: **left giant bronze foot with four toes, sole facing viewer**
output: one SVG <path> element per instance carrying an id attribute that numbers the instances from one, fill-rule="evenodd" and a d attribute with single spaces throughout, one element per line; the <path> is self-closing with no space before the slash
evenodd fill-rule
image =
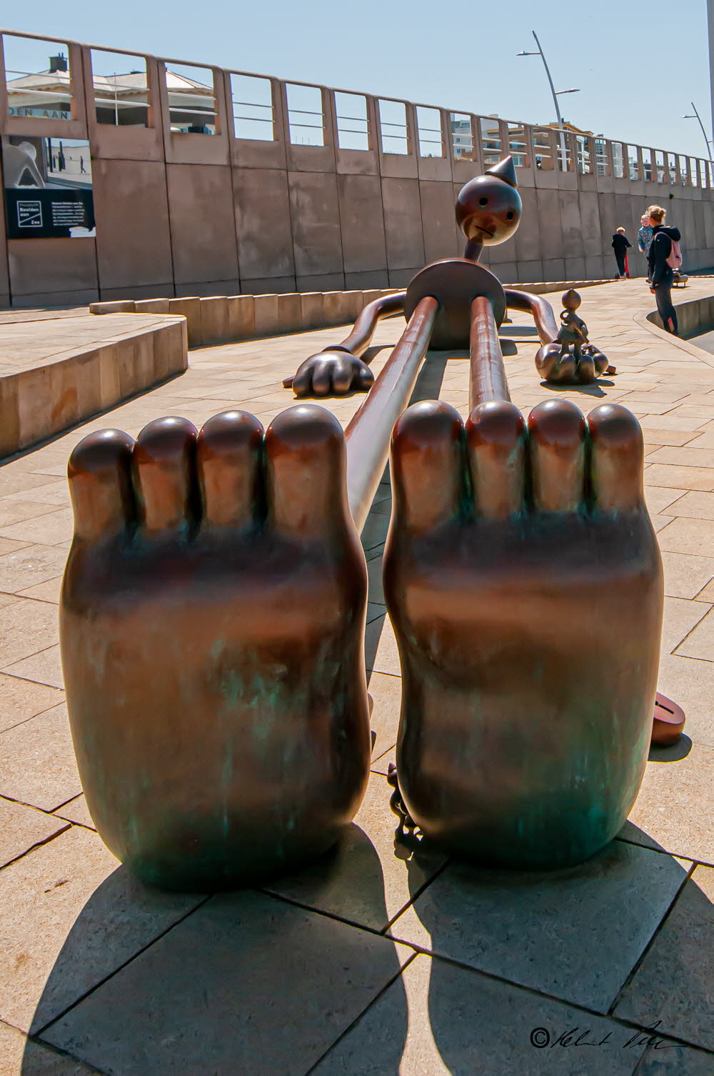
<path id="1" fill-rule="evenodd" d="M 294 868 L 351 821 L 369 770 L 367 570 L 344 436 L 315 405 L 263 433 L 86 437 L 62 664 L 87 805 L 143 880 L 237 886 Z"/>

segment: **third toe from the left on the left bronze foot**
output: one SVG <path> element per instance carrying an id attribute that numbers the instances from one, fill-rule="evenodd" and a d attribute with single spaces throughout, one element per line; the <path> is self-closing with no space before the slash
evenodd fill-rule
<path id="1" fill-rule="evenodd" d="M 224 411 L 203 424 L 197 440 L 204 523 L 249 526 L 261 514 L 263 428 L 246 411 Z"/>

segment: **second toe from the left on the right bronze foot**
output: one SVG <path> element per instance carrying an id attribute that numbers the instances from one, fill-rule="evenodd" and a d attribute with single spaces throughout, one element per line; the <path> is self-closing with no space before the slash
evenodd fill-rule
<path id="1" fill-rule="evenodd" d="M 523 507 L 526 423 L 514 404 L 489 400 L 466 424 L 469 462 L 479 515 L 505 519 Z"/>

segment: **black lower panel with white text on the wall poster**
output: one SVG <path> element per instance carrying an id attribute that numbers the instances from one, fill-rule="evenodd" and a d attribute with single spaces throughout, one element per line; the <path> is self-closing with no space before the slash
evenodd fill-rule
<path id="1" fill-rule="evenodd" d="M 8 239 L 67 239 L 70 228 L 95 227 L 91 190 L 6 187 Z"/>

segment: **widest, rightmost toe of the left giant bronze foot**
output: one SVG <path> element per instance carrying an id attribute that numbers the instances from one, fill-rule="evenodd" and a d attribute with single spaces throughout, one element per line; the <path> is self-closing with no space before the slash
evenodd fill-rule
<path id="1" fill-rule="evenodd" d="M 349 516 L 342 426 L 316 404 L 276 415 L 266 430 L 268 521 L 283 534 L 316 537 Z"/>

